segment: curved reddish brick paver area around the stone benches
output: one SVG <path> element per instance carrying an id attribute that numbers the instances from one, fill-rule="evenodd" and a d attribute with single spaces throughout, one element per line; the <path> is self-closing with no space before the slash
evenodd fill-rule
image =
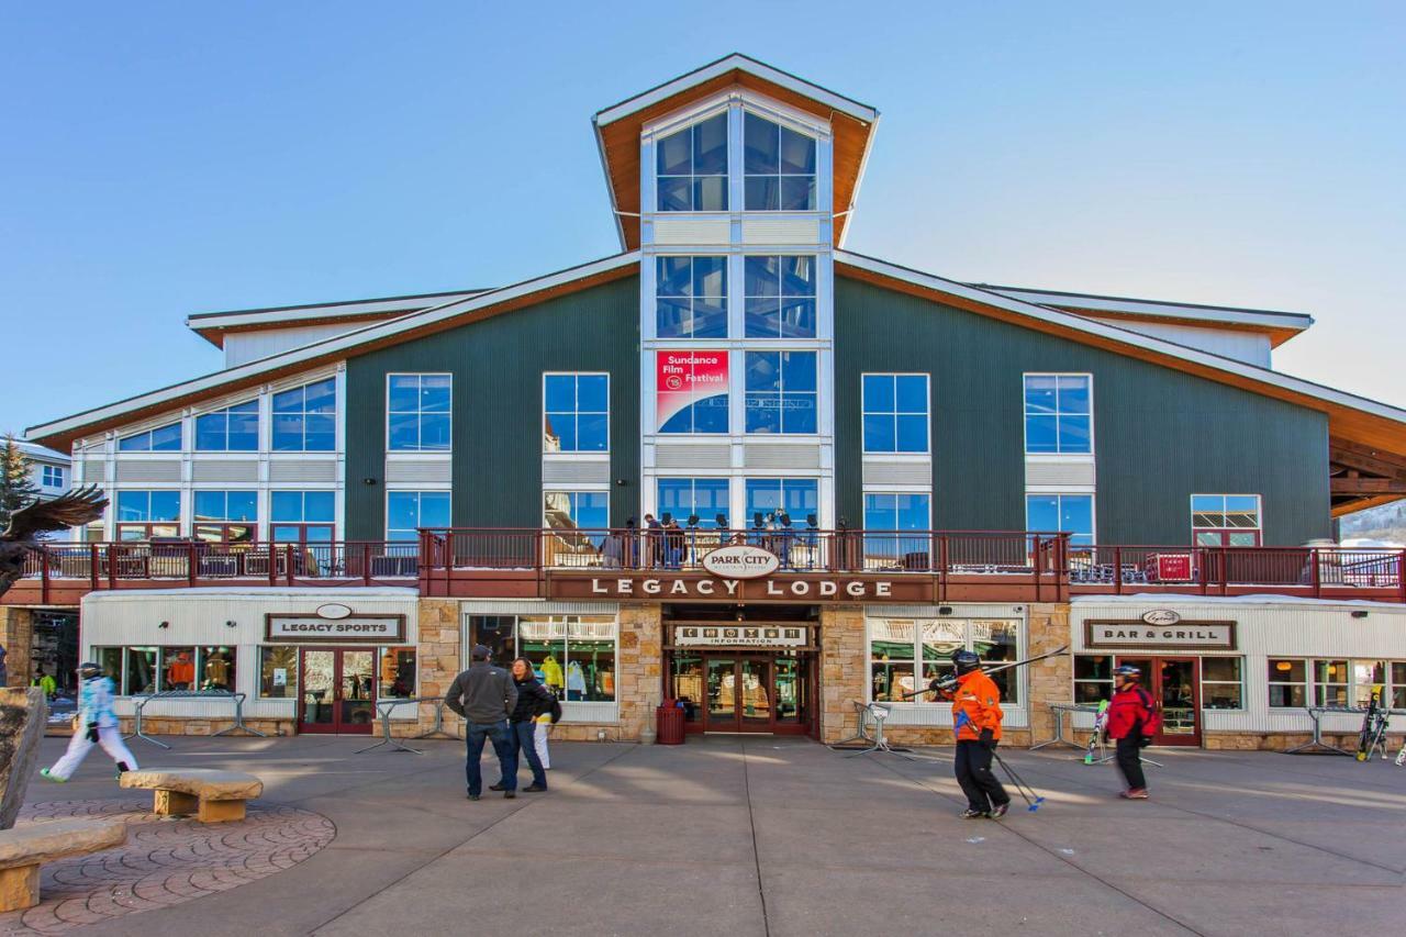
<path id="1" fill-rule="evenodd" d="M 297 808 L 250 805 L 240 823 L 205 824 L 156 816 L 149 796 L 27 803 L 18 824 L 69 817 L 121 819 L 127 844 L 44 865 L 39 903 L 0 914 L 0 933 L 62 934 L 191 902 L 297 865 L 336 836 L 330 820 Z"/>

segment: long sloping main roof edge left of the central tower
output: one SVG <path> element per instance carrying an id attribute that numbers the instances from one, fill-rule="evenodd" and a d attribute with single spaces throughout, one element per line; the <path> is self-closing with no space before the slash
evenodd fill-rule
<path id="1" fill-rule="evenodd" d="M 621 280 L 634 276 L 638 273 L 638 253 L 620 253 L 602 260 L 593 260 L 513 286 L 488 290 L 465 300 L 446 302 L 384 322 L 374 322 L 354 332 L 346 332 L 238 367 L 129 397 L 107 407 L 39 423 L 31 426 L 27 436 L 45 446 L 66 450 L 72 447 L 76 439 L 91 436 L 93 433 L 125 426 L 179 407 L 188 407 L 249 387 L 259 387 L 281 377 L 325 367 L 389 345 L 399 345 L 401 342 L 502 315 L 503 312 L 510 312 L 526 305 L 579 293 L 592 286 Z"/>

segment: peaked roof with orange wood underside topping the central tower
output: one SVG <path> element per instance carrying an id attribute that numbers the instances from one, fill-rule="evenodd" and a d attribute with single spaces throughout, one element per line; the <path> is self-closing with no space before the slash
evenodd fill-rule
<path id="1" fill-rule="evenodd" d="M 765 62 L 734 52 L 599 111 L 592 124 L 606 170 L 610 207 L 626 250 L 640 246 L 640 131 L 659 117 L 728 87 L 759 91 L 825 118 L 834 138 L 835 243 L 844 243 L 849 210 L 859 194 L 879 111 Z M 841 214 L 845 212 L 845 214 Z"/>

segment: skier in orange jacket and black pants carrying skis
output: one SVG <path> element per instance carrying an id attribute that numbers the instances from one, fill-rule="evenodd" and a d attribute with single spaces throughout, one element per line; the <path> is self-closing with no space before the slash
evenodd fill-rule
<path id="1" fill-rule="evenodd" d="M 934 680 L 928 688 L 952 701 L 952 725 L 956 727 L 957 784 L 967 798 L 962 819 L 974 820 L 1005 816 L 1011 795 L 991 771 L 991 753 L 1001 740 L 1001 691 L 981 673 L 981 658 L 969 650 L 952 654 L 956 680 Z"/>

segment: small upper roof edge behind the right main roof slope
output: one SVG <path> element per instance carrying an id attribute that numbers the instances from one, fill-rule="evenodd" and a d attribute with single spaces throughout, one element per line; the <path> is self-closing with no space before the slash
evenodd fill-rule
<path id="1" fill-rule="evenodd" d="M 1056 310 L 1092 315 L 1104 319 L 1129 319 L 1140 322 L 1171 322 L 1178 325 L 1199 325 L 1209 328 L 1263 332 L 1270 336 L 1272 348 L 1284 345 L 1291 338 L 1313 325 L 1313 317 L 1303 312 L 1281 312 L 1277 310 L 1246 310 L 1233 305 L 1201 305 L 1197 302 L 1168 302 L 1166 300 L 1136 300 L 1121 295 L 1099 295 L 1094 293 L 1064 293 L 1059 290 L 1036 290 L 1031 287 L 993 286 L 990 283 L 969 283 L 967 286 L 990 293 L 1000 293 L 1012 300 L 1024 300 Z"/>

